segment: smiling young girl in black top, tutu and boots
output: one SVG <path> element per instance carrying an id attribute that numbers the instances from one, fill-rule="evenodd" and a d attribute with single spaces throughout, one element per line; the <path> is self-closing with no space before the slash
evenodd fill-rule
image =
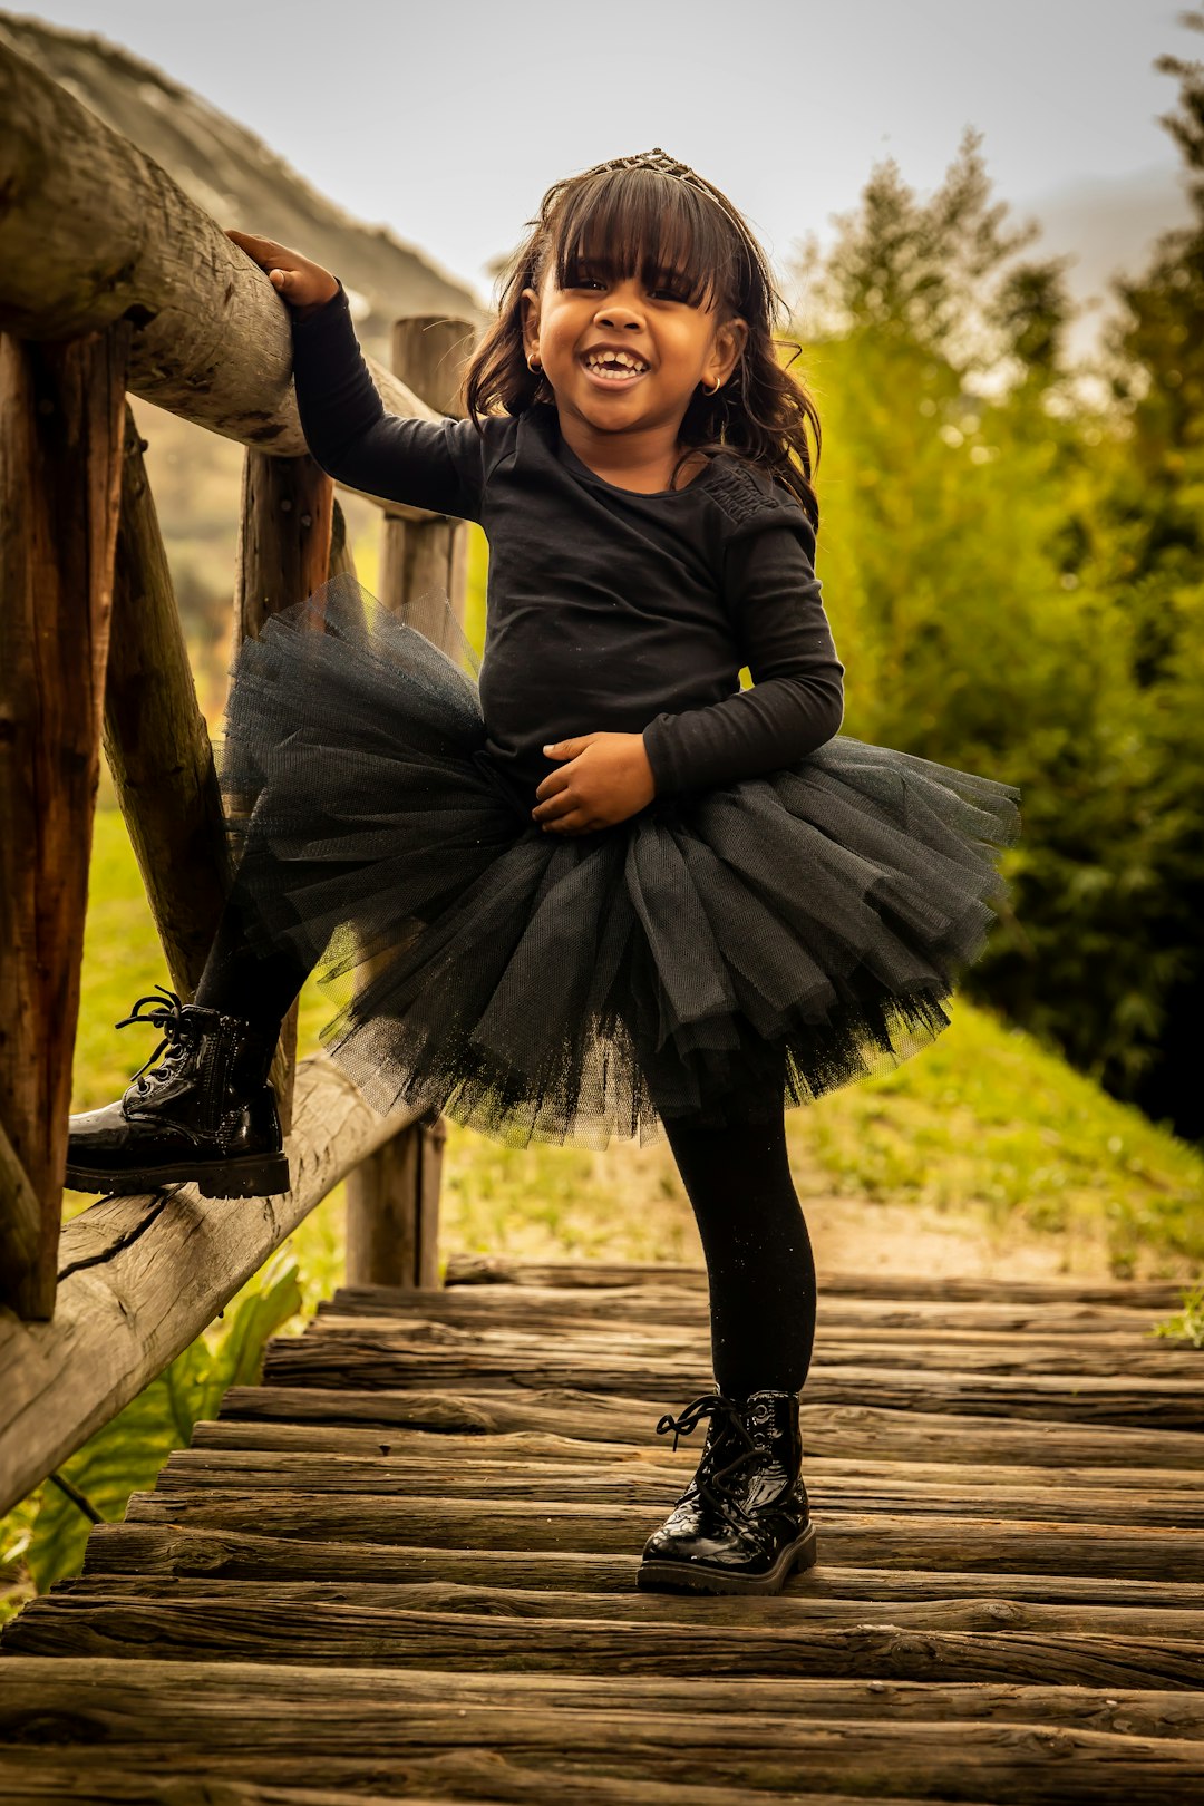
<path id="1" fill-rule="evenodd" d="M 320 963 L 359 966 L 323 1040 L 381 1111 L 520 1145 L 662 1129 L 715 1391 L 657 1425 L 708 1436 L 639 1582 L 776 1593 L 816 1559 L 785 1107 L 948 1024 L 1016 793 L 838 735 L 818 417 L 774 356 L 762 249 L 684 164 L 655 150 L 549 190 L 464 421 L 386 414 L 339 278 L 229 237 L 289 303 L 321 468 L 482 524 L 484 661 L 477 684 L 350 578 L 242 647 L 238 881 L 195 1002 L 139 999 L 128 1020 L 164 1037 L 148 1066 L 166 1057 L 72 1118 L 69 1183 L 287 1188 L 267 1069 Z"/>

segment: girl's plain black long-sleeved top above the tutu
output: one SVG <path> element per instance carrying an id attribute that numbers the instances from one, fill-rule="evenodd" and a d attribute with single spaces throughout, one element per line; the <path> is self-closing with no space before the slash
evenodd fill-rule
<path id="1" fill-rule="evenodd" d="M 388 414 L 343 285 L 292 318 L 301 428 L 339 482 L 480 522 L 486 749 L 534 789 L 583 733 L 643 733 L 659 796 L 792 764 L 843 717 L 843 666 L 798 500 L 718 453 L 682 489 L 594 475 L 556 408 L 482 421 Z M 747 666 L 753 688 L 740 688 Z"/>

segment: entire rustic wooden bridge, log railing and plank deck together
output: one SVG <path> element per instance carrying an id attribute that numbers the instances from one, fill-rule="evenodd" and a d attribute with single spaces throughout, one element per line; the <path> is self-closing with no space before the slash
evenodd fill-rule
<path id="1" fill-rule="evenodd" d="M 9 1625 L 0 1801 L 1204 1797 L 1173 1288 L 823 1275 L 820 1564 L 708 1600 L 635 1587 L 697 1459 L 655 1421 L 709 1387 L 702 1275 L 453 1259 L 440 1286 L 442 1125 L 374 1116 L 289 1033 L 285 1197 L 61 1228 L 101 744 L 182 997 L 229 883 L 126 392 L 245 446 L 238 634 L 352 553 L 267 278 L 5 43 L 0 193 L 0 1512 L 348 1178 L 347 1289 Z M 449 412 L 468 330 L 399 321 L 388 406 Z M 383 600 L 457 596 L 462 529 L 381 506 Z"/>

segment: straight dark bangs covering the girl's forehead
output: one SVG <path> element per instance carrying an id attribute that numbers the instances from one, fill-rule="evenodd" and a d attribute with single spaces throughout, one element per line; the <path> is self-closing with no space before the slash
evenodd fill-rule
<path id="1" fill-rule="evenodd" d="M 738 247 L 722 209 L 688 182 L 655 170 L 608 170 L 565 195 L 554 222 L 560 287 L 588 275 L 639 276 L 691 307 L 736 302 Z"/>

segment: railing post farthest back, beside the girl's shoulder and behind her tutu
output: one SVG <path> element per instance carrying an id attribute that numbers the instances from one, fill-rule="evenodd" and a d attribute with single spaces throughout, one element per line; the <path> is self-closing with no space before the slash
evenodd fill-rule
<path id="1" fill-rule="evenodd" d="M 457 412 L 466 320 L 424 314 L 394 323 L 394 376 L 428 406 Z M 399 520 L 386 511 L 381 601 L 453 657 L 442 596 L 464 621 L 466 531 L 458 520 Z M 431 596 L 428 610 L 415 607 Z M 347 1176 L 348 1286 L 439 1286 L 439 1188 L 446 1123 L 410 1123 Z"/>

